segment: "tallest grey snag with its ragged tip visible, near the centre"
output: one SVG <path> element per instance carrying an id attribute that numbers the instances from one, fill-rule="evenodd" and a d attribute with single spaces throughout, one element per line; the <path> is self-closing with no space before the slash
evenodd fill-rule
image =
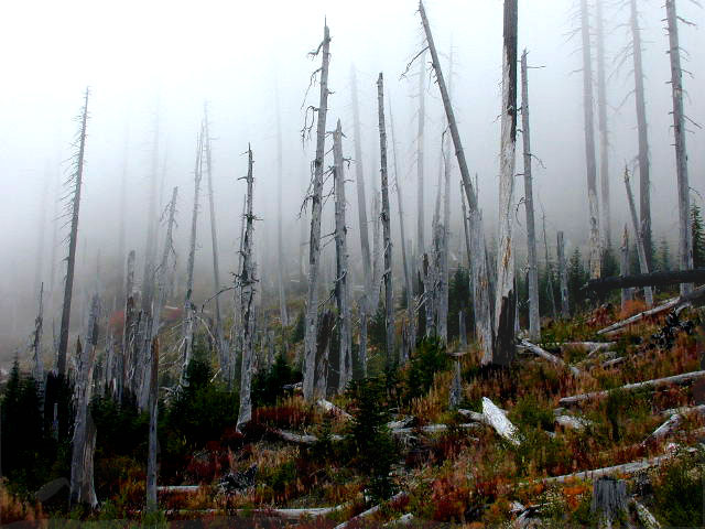
<path id="1" fill-rule="evenodd" d="M 321 102 L 316 109 L 316 159 L 313 162 L 313 194 L 311 198 L 311 239 L 308 247 L 308 292 L 306 295 L 306 321 L 304 331 L 304 398 L 314 400 L 316 375 L 316 335 L 318 331 L 318 268 L 321 259 L 321 210 L 323 207 L 323 159 L 326 142 L 326 115 L 328 111 L 328 64 L 330 62 L 330 34 L 324 25 L 323 42 L 314 53 L 322 53 Z"/>

